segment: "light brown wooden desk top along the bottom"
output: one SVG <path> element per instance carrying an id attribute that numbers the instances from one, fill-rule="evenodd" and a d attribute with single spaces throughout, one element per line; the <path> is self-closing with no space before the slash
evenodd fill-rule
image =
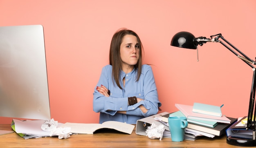
<path id="1" fill-rule="evenodd" d="M 12 130 L 9 124 L 0 124 L 0 130 Z M 170 138 L 149 139 L 146 136 L 137 135 L 135 130 L 131 135 L 115 132 L 97 133 L 94 135 L 71 135 L 68 139 L 58 137 L 45 137 L 37 139 L 23 139 L 16 133 L 0 135 L 0 148 L 170 148 L 170 147 L 193 147 L 193 148 L 237 148 L 226 143 L 226 136 L 214 139 L 202 137 L 195 141 L 185 140 L 172 142 Z"/>

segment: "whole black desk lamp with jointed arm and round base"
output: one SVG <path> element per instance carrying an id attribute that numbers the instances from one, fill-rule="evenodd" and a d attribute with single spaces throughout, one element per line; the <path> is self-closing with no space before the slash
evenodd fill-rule
<path id="1" fill-rule="evenodd" d="M 242 137 L 227 137 L 227 143 L 231 145 L 236 146 L 256 146 L 256 104 L 255 104 L 255 88 L 256 88 L 256 79 L 255 79 L 255 67 L 256 61 L 253 61 L 249 57 L 247 57 L 244 53 L 239 51 L 235 46 L 233 46 L 231 43 L 229 43 L 221 34 L 217 35 L 211 35 L 211 38 L 206 37 L 198 37 L 195 38 L 195 36 L 189 32 L 182 31 L 176 33 L 172 40 L 171 40 L 171 46 L 176 47 L 182 47 L 187 49 L 197 49 L 198 45 L 202 46 L 206 42 L 219 42 L 223 46 L 225 46 L 229 51 L 234 53 L 238 58 L 243 60 L 246 64 L 248 64 L 250 67 L 252 67 L 253 71 L 253 77 L 252 77 L 252 88 L 251 88 L 251 94 L 250 94 L 250 102 L 249 102 L 249 111 L 248 111 L 248 120 L 247 120 L 247 126 L 246 130 L 252 130 L 252 138 L 242 138 Z M 215 37 L 215 38 L 213 38 Z M 225 43 L 223 43 L 222 39 L 225 43 L 229 44 L 234 50 L 232 50 L 229 46 L 227 46 Z M 256 57 L 255 57 L 256 58 Z"/>

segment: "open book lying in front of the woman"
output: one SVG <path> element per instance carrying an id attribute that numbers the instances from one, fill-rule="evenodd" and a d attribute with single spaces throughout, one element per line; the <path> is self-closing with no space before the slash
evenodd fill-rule
<path id="1" fill-rule="evenodd" d="M 70 127 L 71 133 L 76 134 L 94 134 L 97 130 L 100 129 L 114 129 L 122 133 L 132 134 L 133 129 L 135 128 L 132 124 L 126 124 L 119 121 L 106 121 L 102 124 L 82 124 L 82 123 L 70 123 L 67 122 L 61 127 Z"/>

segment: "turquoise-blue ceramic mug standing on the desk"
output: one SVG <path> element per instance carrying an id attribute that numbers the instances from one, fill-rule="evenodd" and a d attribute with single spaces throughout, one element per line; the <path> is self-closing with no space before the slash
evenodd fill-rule
<path id="1" fill-rule="evenodd" d="M 185 128 L 188 126 L 186 117 L 168 117 L 171 139 L 175 142 L 184 140 Z"/>

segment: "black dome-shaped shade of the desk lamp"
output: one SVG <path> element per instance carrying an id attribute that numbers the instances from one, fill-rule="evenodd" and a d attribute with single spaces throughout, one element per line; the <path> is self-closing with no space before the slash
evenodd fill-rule
<path id="1" fill-rule="evenodd" d="M 196 49 L 197 45 L 194 44 L 195 36 L 192 33 L 181 31 L 176 33 L 172 40 L 171 46 L 182 47 L 187 49 Z"/>

